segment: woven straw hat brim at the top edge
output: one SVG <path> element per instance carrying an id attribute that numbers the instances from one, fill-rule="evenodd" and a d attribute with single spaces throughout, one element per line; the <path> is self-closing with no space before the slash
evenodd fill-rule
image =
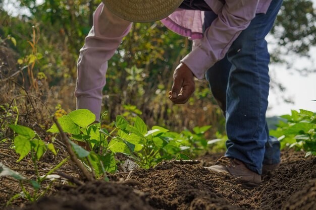
<path id="1" fill-rule="evenodd" d="M 183 0 L 102 0 L 115 15 L 131 22 L 152 22 L 166 18 Z"/>

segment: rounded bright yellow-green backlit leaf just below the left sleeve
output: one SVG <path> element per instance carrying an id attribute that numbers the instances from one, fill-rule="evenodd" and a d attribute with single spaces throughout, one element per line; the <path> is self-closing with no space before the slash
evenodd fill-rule
<path id="1" fill-rule="evenodd" d="M 95 115 L 88 109 L 78 109 L 68 114 L 70 119 L 80 127 L 87 127 L 95 121 Z"/>

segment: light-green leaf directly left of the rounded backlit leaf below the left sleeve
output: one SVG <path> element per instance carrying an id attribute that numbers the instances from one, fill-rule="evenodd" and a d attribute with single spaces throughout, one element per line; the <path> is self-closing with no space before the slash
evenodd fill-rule
<path id="1" fill-rule="evenodd" d="M 68 115 L 65 115 L 59 118 L 58 123 L 61 125 L 63 131 L 66 133 L 71 133 L 71 134 L 80 133 L 80 127 L 77 124 L 75 124 Z M 47 132 L 59 133 L 59 129 L 56 123 L 54 123 L 54 125 L 52 125 L 51 128 L 47 130 Z"/>

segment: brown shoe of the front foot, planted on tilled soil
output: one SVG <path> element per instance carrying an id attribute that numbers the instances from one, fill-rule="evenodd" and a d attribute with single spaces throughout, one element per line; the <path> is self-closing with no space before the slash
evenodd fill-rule
<path id="1" fill-rule="evenodd" d="M 210 171 L 228 174 L 246 186 L 257 186 L 261 183 L 261 175 L 251 171 L 243 162 L 234 158 L 221 157 L 214 166 L 205 168 Z"/>

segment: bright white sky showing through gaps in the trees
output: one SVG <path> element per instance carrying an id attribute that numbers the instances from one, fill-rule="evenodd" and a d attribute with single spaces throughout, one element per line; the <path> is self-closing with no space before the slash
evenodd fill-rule
<path id="1" fill-rule="evenodd" d="M 37 0 L 42 2 L 43 0 Z M 316 4 L 316 0 L 312 0 Z M 15 0 L 4 0 L 4 6 L 7 11 L 13 16 L 18 14 L 27 14 L 27 10 L 19 9 L 19 5 Z M 269 38 L 268 38 L 269 42 Z M 269 46 L 270 49 L 273 46 Z M 301 58 L 298 56 L 289 55 L 287 59 L 293 62 L 293 65 L 287 69 L 281 64 L 270 65 L 270 73 L 274 80 L 281 83 L 285 88 L 285 92 L 277 90 L 271 90 L 269 93 L 269 107 L 267 116 L 279 116 L 282 114 L 290 114 L 291 109 L 306 109 L 316 112 L 316 74 L 309 74 L 307 77 L 299 75 L 299 73 L 293 71 L 294 68 L 313 67 L 316 68 L 316 47 L 313 47 L 310 51 L 311 57 L 309 59 Z M 292 69 L 291 69 L 292 68 Z M 290 98 L 294 104 L 285 103 L 281 96 Z"/>

